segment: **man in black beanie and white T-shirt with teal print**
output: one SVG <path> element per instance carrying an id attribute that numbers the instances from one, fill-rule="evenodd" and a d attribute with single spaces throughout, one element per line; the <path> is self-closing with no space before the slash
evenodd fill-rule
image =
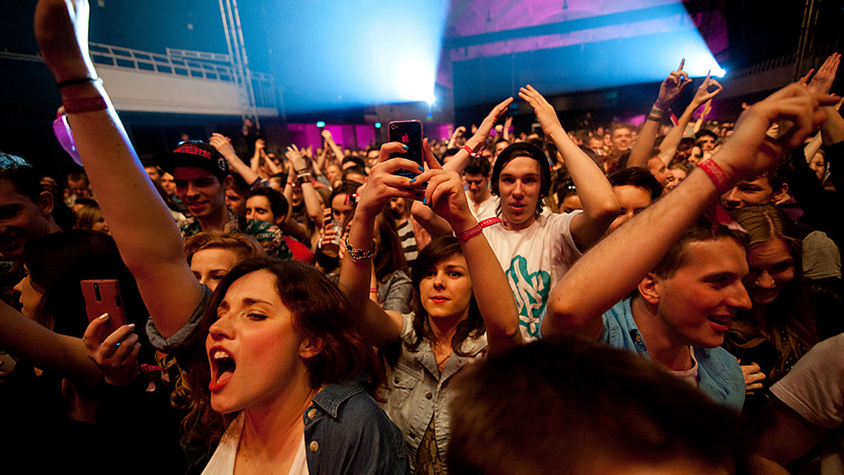
<path id="1" fill-rule="evenodd" d="M 519 306 L 522 337 L 538 337 L 551 287 L 582 251 L 598 241 L 619 215 L 619 201 L 603 172 L 566 134 L 554 107 L 531 86 L 522 100 L 533 106 L 545 137 L 554 141 L 581 197 L 583 211 L 542 213 L 551 170 L 544 152 L 530 143 L 505 148 L 492 169 L 492 193 L 500 197 L 500 226 L 484 229 Z"/>

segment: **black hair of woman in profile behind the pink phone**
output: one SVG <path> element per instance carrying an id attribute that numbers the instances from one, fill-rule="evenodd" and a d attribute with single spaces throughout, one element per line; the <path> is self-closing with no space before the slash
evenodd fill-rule
<path id="1" fill-rule="evenodd" d="M 138 286 L 110 235 L 76 229 L 46 235 L 24 245 L 23 262 L 30 280 L 43 290 L 35 320 L 54 332 L 82 337 L 88 327 L 80 281 L 115 278 L 127 323 L 146 325 L 149 313 Z M 143 342 L 145 332 L 138 332 Z"/>

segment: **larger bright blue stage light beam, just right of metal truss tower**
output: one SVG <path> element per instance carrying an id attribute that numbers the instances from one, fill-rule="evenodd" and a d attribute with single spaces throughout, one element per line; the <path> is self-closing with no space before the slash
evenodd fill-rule
<path id="1" fill-rule="evenodd" d="M 448 0 L 268 3 L 289 114 L 428 100 Z M 303 32 L 306 32 L 303 34 Z M 279 81 L 280 79 L 280 81 Z"/>

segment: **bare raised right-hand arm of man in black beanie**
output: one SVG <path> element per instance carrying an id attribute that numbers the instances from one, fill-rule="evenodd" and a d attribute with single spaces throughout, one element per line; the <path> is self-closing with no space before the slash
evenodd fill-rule
<path id="1" fill-rule="evenodd" d="M 557 118 L 557 112 L 542 94 L 528 84 L 519 90 L 519 97 L 527 100 L 533 107 L 545 137 L 554 141 L 565 160 L 565 168 L 569 170 L 571 181 L 574 181 L 577 187 L 583 213 L 578 213 L 571 219 L 571 237 L 574 238 L 577 248 L 585 251 L 601 239 L 609 224 L 618 217 L 619 200 L 603 171 L 565 133 L 560 119 Z"/>

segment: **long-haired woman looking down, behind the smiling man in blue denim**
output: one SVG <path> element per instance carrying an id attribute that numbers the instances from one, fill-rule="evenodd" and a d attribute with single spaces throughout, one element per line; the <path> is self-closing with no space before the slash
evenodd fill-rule
<path id="1" fill-rule="evenodd" d="M 802 246 L 796 229 L 773 206 L 746 206 L 731 213 L 750 238 L 744 288 L 753 308 L 729 323 L 724 348 L 744 371 L 744 412 L 758 413 L 768 388 L 818 343 L 814 315 L 803 290 Z"/>

